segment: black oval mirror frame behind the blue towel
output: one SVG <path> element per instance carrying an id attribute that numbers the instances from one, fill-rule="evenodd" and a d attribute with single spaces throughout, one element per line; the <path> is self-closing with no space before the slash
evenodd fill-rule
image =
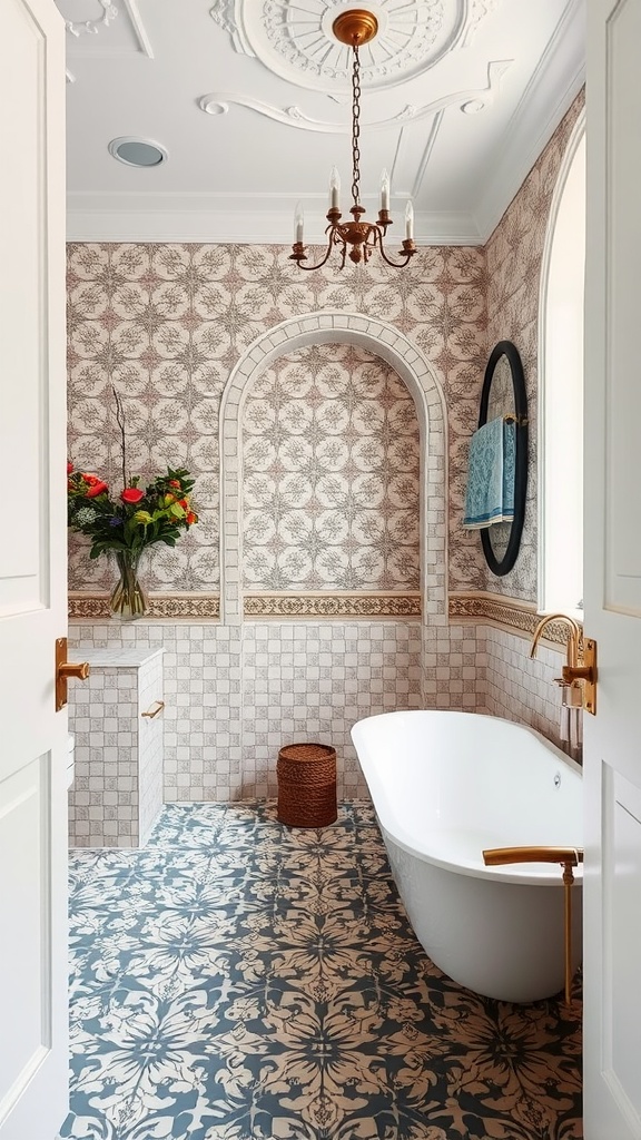
<path id="1" fill-rule="evenodd" d="M 526 381 L 524 366 L 519 350 L 512 341 L 498 341 L 498 343 L 493 348 L 489 360 L 487 361 L 487 367 L 485 369 L 485 376 L 482 382 L 481 401 L 479 409 L 479 427 L 482 427 L 487 423 L 487 409 L 489 405 L 489 392 L 492 389 L 492 381 L 494 377 L 494 370 L 498 360 L 502 356 L 508 358 L 508 364 L 510 365 L 510 372 L 512 375 L 512 391 L 514 393 L 514 418 L 517 422 L 516 431 L 516 462 L 514 462 L 514 518 L 512 519 L 510 528 L 510 538 L 508 539 L 508 546 L 502 559 L 497 559 L 490 539 L 492 527 L 486 527 L 481 530 L 481 546 L 485 554 L 485 560 L 492 570 L 493 575 L 497 578 L 503 578 L 504 575 L 512 570 L 518 554 L 519 547 L 521 545 L 521 536 L 524 532 L 524 523 L 526 516 L 526 495 L 527 495 L 527 464 L 528 464 L 528 415 L 527 415 L 527 392 L 526 392 Z"/>

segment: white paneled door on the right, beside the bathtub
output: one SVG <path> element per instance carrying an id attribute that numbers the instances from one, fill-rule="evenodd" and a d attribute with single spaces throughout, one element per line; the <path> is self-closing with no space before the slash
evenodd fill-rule
<path id="1" fill-rule="evenodd" d="M 585 1138 L 641 1138 L 640 0 L 587 0 Z"/>

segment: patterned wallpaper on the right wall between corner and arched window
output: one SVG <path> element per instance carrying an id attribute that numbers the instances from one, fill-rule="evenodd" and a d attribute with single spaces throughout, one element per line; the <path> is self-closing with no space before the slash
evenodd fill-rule
<path id="1" fill-rule="evenodd" d="M 537 598 L 537 390 L 541 262 L 552 195 L 574 125 L 584 105 L 575 100 L 486 245 L 487 344 L 513 341 L 524 363 L 529 418 L 526 521 L 519 557 L 504 578 L 485 570 L 485 588 L 521 601 Z"/>

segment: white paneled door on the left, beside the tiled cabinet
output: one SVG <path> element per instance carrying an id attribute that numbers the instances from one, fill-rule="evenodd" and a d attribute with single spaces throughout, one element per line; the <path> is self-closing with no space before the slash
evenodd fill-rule
<path id="1" fill-rule="evenodd" d="M 0 2 L 0 1138 L 67 1108 L 64 25 Z"/>

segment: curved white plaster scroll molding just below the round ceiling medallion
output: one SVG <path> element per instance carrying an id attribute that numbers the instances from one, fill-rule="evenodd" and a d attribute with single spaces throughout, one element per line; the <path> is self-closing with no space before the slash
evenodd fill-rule
<path id="1" fill-rule="evenodd" d="M 493 59 L 487 65 L 487 85 L 484 88 L 452 91 L 439 99 L 432 99 L 431 103 L 423 104 L 422 107 L 416 107 L 408 103 L 396 114 L 387 115 L 384 119 L 376 119 L 372 122 L 365 121 L 363 127 L 371 131 L 386 127 L 403 127 L 409 122 L 417 123 L 422 119 L 430 117 L 456 105 L 466 114 L 472 114 L 472 108 L 474 112 L 482 111 L 496 97 L 501 80 L 512 63 L 513 59 Z M 320 131 L 325 135 L 349 135 L 351 132 L 351 123 L 347 121 L 334 123 L 322 119 L 311 119 L 300 107 L 275 107 L 268 103 L 261 103 L 260 99 L 234 95 L 230 91 L 210 91 L 209 95 L 203 95 L 198 99 L 198 106 L 208 115 L 227 115 L 230 106 L 246 107 L 249 111 L 254 111 L 258 115 L 265 115 L 277 123 L 298 127 L 305 131 Z"/>

